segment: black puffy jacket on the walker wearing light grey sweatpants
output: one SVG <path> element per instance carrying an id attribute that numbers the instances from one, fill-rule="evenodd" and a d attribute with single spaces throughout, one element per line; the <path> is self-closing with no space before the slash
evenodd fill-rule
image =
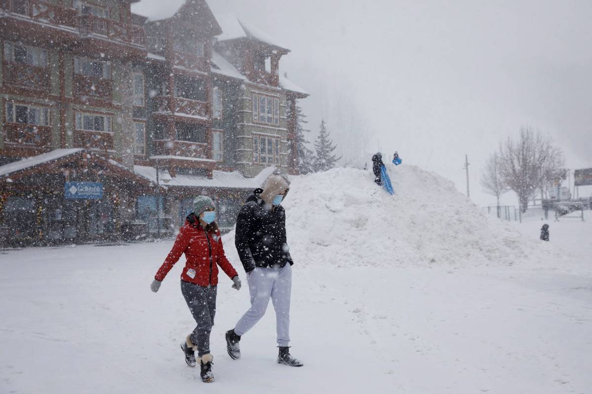
<path id="1" fill-rule="evenodd" d="M 287 263 L 294 264 L 286 239 L 284 207 L 264 209 L 259 197 L 262 192 L 260 188 L 253 191 L 236 220 L 234 245 L 247 273 L 255 267 L 282 268 Z"/>

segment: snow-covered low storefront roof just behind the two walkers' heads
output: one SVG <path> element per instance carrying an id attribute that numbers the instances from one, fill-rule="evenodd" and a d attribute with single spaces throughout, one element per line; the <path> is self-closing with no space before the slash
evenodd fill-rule
<path id="1" fill-rule="evenodd" d="M 216 187 L 216 188 L 258 188 L 269 175 L 275 171 L 275 167 L 266 167 L 256 177 L 245 178 L 239 171 L 212 171 L 212 178 L 198 177 L 197 175 L 181 175 L 173 177 L 168 183 L 161 183 L 167 187 Z M 145 165 L 134 165 L 134 172 L 153 183 L 156 183 L 156 168 Z M 165 174 L 161 170 L 159 176 Z"/>

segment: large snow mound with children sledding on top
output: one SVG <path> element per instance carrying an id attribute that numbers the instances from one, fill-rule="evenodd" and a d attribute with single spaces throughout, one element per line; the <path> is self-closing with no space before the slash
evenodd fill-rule
<path id="1" fill-rule="evenodd" d="M 387 165 L 397 193 L 352 168 L 291 178 L 284 207 L 288 243 L 299 264 L 512 265 L 562 259 L 548 243 L 488 219 L 454 184 L 418 167 Z M 236 255 L 234 232 L 226 250 Z M 543 258 L 545 257 L 546 258 Z"/>

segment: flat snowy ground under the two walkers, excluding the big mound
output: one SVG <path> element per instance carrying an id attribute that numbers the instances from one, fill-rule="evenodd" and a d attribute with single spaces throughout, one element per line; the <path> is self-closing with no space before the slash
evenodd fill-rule
<path id="1" fill-rule="evenodd" d="M 575 271 L 297 263 L 302 368 L 275 363 L 271 305 L 243 358 L 227 356 L 224 331 L 249 298 L 235 264 L 244 287 L 220 278 L 211 385 L 179 348 L 194 326 L 182 262 L 149 289 L 170 242 L 0 252 L 0 393 L 590 393 L 588 244 Z"/>

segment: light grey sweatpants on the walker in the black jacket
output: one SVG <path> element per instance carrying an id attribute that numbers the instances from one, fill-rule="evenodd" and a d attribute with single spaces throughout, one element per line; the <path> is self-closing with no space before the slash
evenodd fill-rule
<path id="1" fill-rule="evenodd" d="M 288 346 L 290 341 L 290 294 L 292 292 L 292 268 L 255 268 L 247 275 L 251 307 L 240 318 L 234 332 L 242 336 L 265 315 L 269 298 L 275 309 L 278 346 Z"/>

